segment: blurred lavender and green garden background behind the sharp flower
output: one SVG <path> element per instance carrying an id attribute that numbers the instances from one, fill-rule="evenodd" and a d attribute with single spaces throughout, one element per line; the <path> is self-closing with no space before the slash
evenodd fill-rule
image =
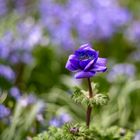
<path id="1" fill-rule="evenodd" d="M 92 122 L 140 129 L 139 0 L 0 0 L 0 138 L 22 140 L 50 125 L 84 122 L 85 108 L 71 100 L 76 80 L 65 69 L 84 43 L 108 59 L 92 78 L 108 105 Z"/>

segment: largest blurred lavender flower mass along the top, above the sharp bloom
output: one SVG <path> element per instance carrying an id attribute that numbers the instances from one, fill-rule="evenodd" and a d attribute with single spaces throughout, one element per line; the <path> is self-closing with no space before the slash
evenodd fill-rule
<path id="1" fill-rule="evenodd" d="M 40 0 L 39 10 L 50 41 L 65 49 L 93 38 L 108 39 L 131 19 L 130 12 L 116 0 Z"/>

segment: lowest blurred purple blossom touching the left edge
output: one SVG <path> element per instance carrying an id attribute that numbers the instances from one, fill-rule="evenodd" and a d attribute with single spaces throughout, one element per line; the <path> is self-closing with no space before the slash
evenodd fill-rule
<path id="1" fill-rule="evenodd" d="M 0 104 L 0 119 L 3 119 L 10 115 L 10 109 Z"/>

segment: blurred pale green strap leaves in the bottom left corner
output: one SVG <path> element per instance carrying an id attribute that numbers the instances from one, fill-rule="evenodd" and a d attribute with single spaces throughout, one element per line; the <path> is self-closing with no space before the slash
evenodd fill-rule
<path id="1" fill-rule="evenodd" d="M 11 116 L 11 124 L 0 134 L 1 140 L 21 140 L 25 135 L 32 135 L 31 129 L 37 127 L 36 116 L 42 109 L 42 105 L 42 101 L 37 101 L 30 106 L 24 106 L 21 101 L 17 102 Z"/>

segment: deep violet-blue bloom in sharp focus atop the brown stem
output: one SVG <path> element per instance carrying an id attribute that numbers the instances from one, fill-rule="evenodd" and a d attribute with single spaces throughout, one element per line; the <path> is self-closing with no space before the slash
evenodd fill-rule
<path id="1" fill-rule="evenodd" d="M 99 53 L 89 44 L 82 45 L 74 54 L 70 55 L 66 63 L 66 69 L 76 72 L 75 78 L 90 78 L 96 72 L 105 72 L 107 60 L 100 58 Z"/>

